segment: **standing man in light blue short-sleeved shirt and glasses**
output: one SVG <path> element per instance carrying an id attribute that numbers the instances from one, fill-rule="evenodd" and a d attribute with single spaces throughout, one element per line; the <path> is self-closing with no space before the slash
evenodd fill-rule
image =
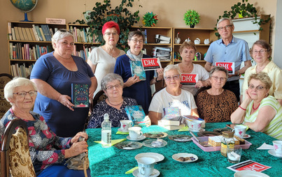
<path id="1" fill-rule="evenodd" d="M 204 60 L 206 61 L 207 71 L 216 66 L 216 62 L 234 62 L 234 75 L 229 75 L 227 82 L 223 88 L 235 93 L 236 98 L 240 100 L 239 78 L 244 74 L 247 68 L 251 66 L 251 56 L 249 54 L 248 43 L 245 40 L 234 38 L 234 24 L 232 20 L 222 18 L 217 24 L 220 40 L 211 43 Z M 244 61 L 244 67 L 240 69 L 241 63 Z"/>

